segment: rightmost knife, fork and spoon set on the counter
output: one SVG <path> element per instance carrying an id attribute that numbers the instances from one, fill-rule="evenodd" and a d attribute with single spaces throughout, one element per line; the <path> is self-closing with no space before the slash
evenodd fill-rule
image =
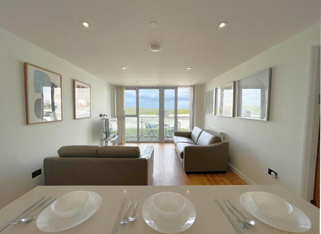
<path id="1" fill-rule="evenodd" d="M 221 205 L 221 203 L 219 202 L 218 199 L 215 199 L 215 201 L 217 202 L 217 204 L 221 207 L 222 211 L 225 213 L 225 215 L 227 216 L 227 218 L 229 219 L 230 223 L 232 224 L 232 226 L 234 227 L 234 229 L 237 231 L 237 233 L 242 233 L 241 228 L 242 229 L 251 229 L 250 225 L 254 225 L 255 222 L 251 219 L 248 219 L 247 217 L 245 217 L 236 207 L 235 205 L 233 205 L 230 200 L 225 200 L 223 199 L 223 203 L 225 204 L 225 206 L 234 214 L 234 216 L 236 217 L 237 221 L 235 222 L 231 216 L 226 212 L 226 210 L 223 208 L 223 206 Z M 250 225 L 249 225 L 250 224 Z"/>

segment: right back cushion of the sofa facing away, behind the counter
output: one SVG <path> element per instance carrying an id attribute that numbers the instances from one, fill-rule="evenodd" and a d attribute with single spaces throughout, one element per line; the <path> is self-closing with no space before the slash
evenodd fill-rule
<path id="1" fill-rule="evenodd" d="M 97 157 L 138 158 L 140 150 L 138 146 L 101 146 L 97 150 Z"/>

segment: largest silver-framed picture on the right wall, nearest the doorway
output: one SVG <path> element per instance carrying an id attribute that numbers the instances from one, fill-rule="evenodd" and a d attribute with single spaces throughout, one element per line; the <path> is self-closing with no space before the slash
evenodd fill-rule
<path id="1" fill-rule="evenodd" d="M 271 68 L 239 79 L 236 117 L 269 120 Z"/>

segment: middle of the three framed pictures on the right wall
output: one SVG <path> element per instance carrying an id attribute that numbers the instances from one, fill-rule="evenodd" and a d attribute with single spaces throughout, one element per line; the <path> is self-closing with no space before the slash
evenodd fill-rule
<path id="1" fill-rule="evenodd" d="M 234 116 L 234 86 L 232 81 L 216 88 L 216 115 Z"/>

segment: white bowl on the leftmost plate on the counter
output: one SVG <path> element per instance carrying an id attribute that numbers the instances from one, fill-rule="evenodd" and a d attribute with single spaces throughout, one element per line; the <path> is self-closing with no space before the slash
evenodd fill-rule
<path id="1" fill-rule="evenodd" d="M 89 199 L 87 191 L 73 191 L 60 196 L 52 205 L 51 209 L 60 218 L 70 218 L 82 212 Z"/>

